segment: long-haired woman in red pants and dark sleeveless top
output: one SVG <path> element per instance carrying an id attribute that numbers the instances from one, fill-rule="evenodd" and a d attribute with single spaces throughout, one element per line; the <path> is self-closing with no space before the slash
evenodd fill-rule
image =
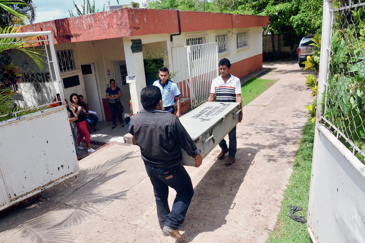
<path id="1" fill-rule="evenodd" d="M 91 146 L 90 146 L 90 133 L 89 133 L 89 130 L 86 125 L 85 110 L 83 110 L 81 106 L 77 105 L 78 95 L 71 94 L 70 102 L 72 103 L 70 108 L 77 115 L 77 120 L 75 122 L 76 122 L 77 130 L 80 132 L 80 134 L 77 137 L 78 149 L 84 149 L 84 148 L 80 147 L 80 142 L 81 142 L 82 138 L 85 137 L 85 143 L 86 143 L 86 146 L 88 147 L 88 152 L 92 153 L 95 150 L 93 148 L 91 148 Z"/>

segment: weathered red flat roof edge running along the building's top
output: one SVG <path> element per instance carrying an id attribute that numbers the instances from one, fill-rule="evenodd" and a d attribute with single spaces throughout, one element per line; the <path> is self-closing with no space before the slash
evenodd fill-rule
<path id="1" fill-rule="evenodd" d="M 268 16 L 180 11 L 181 32 L 261 27 Z M 120 8 L 22 27 L 21 32 L 51 31 L 54 44 L 178 33 L 177 10 Z"/>

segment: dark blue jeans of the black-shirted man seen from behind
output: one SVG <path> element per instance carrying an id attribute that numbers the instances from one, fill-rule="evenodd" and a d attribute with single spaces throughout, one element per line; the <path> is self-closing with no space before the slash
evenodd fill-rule
<path id="1" fill-rule="evenodd" d="M 155 193 L 157 217 L 161 229 L 177 230 L 184 223 L 186 212 L 194 195 L 190 176 L 182 164 L 169 168 L 157 168 L 145 165 Z M 176 191 L 172 211 L 170 211 L 168 196 L 169 187 Z"/>

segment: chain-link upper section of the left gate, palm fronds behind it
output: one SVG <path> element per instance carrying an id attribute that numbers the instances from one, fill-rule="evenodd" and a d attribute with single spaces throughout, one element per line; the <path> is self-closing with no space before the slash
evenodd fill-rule
<path id="1" fill-rule="evenodd" d="M 17 31 L 0 33 L 0 121 L 61 104 L 48 36 Z"/>

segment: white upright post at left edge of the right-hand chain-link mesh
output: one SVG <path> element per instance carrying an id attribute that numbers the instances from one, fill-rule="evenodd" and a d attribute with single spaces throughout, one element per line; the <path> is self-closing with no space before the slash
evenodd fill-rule
<path id="1" fill-rule="evenodd" d="M 333 0 L 323 0 L 323 22 L 322 22 L 322 42 L 320 47 L 320 63 L 319 63 L 319 77 L 318 77 L 318 97 L 317 97 L 317 112 L 316 112 L 316 126 L 322 120 L 322 102 L 323 92 L 326 90 L 326 83 L 328 77 L 328 60 L 330 57 L 330 43 L 332 32 L 332 14 L 330 10 L 333 9 Z"/>

